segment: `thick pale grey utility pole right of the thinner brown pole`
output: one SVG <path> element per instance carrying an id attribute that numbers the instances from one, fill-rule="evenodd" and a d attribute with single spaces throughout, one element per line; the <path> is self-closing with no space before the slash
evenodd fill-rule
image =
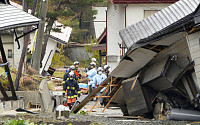
<path id="1" fill-rule="evenodd" d="M 42 45 L 44 41 L 44 27 L 47 14 L 47 5 L 48 5 L 48 0 L 41 0 L 40 13 L 39 13 L 39 18 L 41 19 L 41 21 L 39 24 L 38 35 L 33 57 L 33 68 L 38 72 L 40 71 L 40 59 L 42 53 Z"/>

